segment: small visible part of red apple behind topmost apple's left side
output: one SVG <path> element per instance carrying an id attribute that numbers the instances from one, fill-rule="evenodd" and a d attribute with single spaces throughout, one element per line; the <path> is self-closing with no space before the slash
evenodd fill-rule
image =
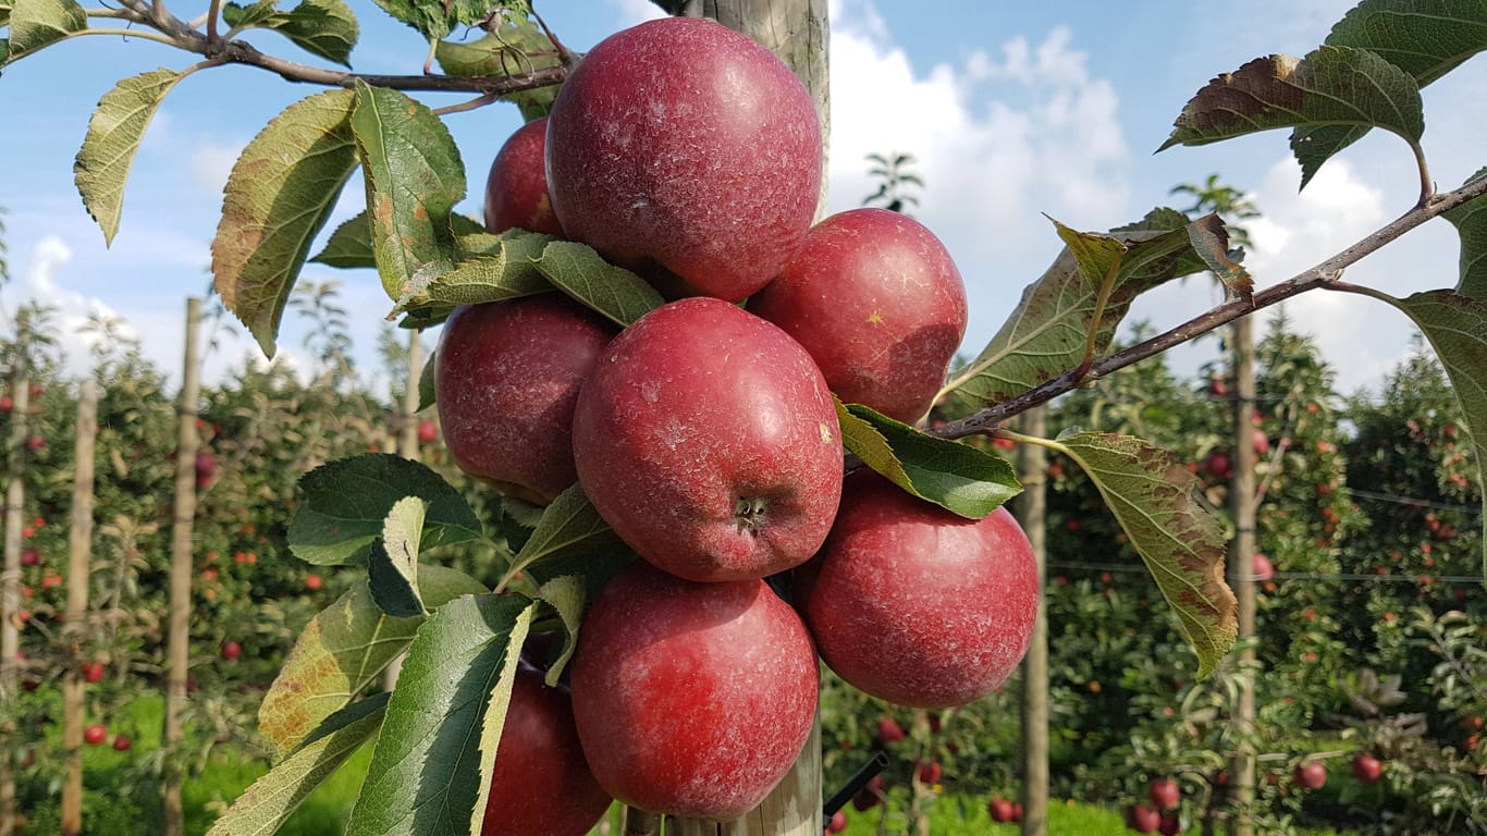
<path id="1" fill-rule="evenodd" d="M 525 229 L 562 237 L 547 195 L 546 147 L 547 118 L 540 116 L 517 128 L 495 152 L 485 180 L 486 231 Z"/>

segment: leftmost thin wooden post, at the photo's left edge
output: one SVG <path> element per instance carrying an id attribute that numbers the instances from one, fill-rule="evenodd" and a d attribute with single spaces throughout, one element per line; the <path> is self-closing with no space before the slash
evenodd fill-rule
<path id="1" fill-rule="evenodd" d="M 10 378 L 10 466 L 4 492 L 4 570 L 0 571 L 0 836 L 15 833 L 15 710 L 10 701 L 21 684 L 16 653 L 21 650 L 21 528 L 25 527 L 25 433 L 31 409 L 31 378 L 25 351 L 18 353 Z"/>

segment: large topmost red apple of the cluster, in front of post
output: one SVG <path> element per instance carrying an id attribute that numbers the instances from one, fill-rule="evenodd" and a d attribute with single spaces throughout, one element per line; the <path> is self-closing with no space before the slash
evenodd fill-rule
<path id="1" fill-rule="evenodd" d="M 705 18 L 595 45 L 547 123 L 547 187 L 568 237 L 727 300 L 779 275 L 815 217 L 821 161 L 800 79 Z"/>

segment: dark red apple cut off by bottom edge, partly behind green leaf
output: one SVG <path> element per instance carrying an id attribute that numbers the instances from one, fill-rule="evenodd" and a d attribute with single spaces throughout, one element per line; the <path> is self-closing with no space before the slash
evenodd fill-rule
<path id="1" fill-rule="evenodd" d="M 610 809 L 610 796 L 583 759 L 567 687 L 517 665 L 512 705 L 495 748 L 482 836 L 583 836 Z"/>

